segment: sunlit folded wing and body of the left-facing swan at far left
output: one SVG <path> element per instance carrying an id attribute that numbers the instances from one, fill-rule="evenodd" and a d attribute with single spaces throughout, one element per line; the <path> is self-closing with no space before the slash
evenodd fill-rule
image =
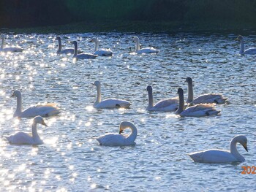
<path id="1" fill-rule="evenodd" d="M 37 115 L 40 115 L 42 117 L 49 117 L 53 115 L 58 115 L 60 112 L 61 111 L 56 104 L 37 104 L 33 107 L 29 107 L 28 109 L 24 110 L 21 113 L 20 118 L 32 118 Z"/>

